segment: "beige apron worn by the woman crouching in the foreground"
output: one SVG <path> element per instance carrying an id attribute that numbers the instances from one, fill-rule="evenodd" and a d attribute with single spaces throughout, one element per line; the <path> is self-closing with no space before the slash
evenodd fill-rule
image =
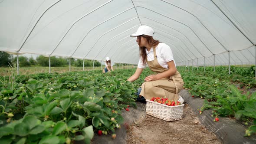
<path id="1" fill-rule="evenodd" d="M 156 50 L 154 48 L 154 60 L 147 61 L 149 69 L 156 73 L 162 73 L 167 71 L 163 68 L 157 60 Z M 159 79 L 156 81 L 144 82 L 141 85 L 140 95 L 144 96 L 145 99 L 151 99 L 153 97 L 167 97 L 172 101 L 177 101 L 179 99 L 178 93 L 183 88 L 183 80 L 181 74 L 176 71 L 176 73 L 170 77 Z"/>

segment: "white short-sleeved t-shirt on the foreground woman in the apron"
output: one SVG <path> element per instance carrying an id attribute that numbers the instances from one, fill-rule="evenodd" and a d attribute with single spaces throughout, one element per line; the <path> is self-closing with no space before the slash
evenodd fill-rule
<path id="1" fill-rule="evenodd" d="M 146 48 L 145 48 L 146 49 Z M 173 55 L 172 55 L 172 51 L 170 46 L 168 46 L 165 43 L 159 43 L 158 46 L 155 48 L 156 49 L 156 55 L 157 55 L 157 60 L 158 63 L 165 69 L 168 69 L 168 65 L 167 62 L 170 61 L 174 61 Z M 154 60 L 154 51 L 153 51 L 153 47 L 150 49 L 150 51 L 148 52 L 148 50 L 146 49 L 147 52 L 147 59 L 148 61 L 152 61 Z M 140 57 L 139 63 L 138 63 L 138 68 L 141 69 L 145 69 L 146 68 L 146 64 L 145 63 L 143 65 L 142 62 L 142 58 Z M 175 67 L 176 67 L 176 63 L 174 61 Z"/>

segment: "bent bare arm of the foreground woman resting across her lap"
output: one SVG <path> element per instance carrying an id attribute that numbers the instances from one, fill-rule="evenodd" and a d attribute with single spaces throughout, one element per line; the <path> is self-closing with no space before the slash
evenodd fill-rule
<path id="1" fill-rule="evenodd" d="M 175 67 L 175 64 L 174 64 L 174 61 L 170 61 L 170 62 L 167 62 L 167 65 L 169 67 L 169 69 L 165 72 L 162 72 L 162 73 L 159 73 L 158 75 L 149 75 L 145 78 L 145 81 L 146 82 L 149 82 L 149 81 L 156 81 L 158 79 L 163 79 L 163 78 L 167 78 L 169 76 L 172 76 L 175 74 L 175 72 L 177 71 L 176 67 Z"/>

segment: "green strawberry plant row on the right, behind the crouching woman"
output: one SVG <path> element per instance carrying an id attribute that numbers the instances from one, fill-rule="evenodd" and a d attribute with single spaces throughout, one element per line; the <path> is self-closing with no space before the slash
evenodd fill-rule
<path id="1" fill-rule="evenodd" d="M 245 136 L 256 133 L 256 92 L 243 94 L 230 80 L 205 76 L 205 73 L 182 71 L 181 75 L 184 88 L 189 89 L 192 97 L 205 99 L 200 111 L 213 108 L 213 116 L 234 117 L 250 125 Z"/>

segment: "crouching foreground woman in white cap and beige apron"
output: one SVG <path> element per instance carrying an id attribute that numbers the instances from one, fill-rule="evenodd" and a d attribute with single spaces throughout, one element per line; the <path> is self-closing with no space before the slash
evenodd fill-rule
<path id="1" fill-rule="evenodd" d="M 127 81 L 133 82 L 138 79 L 148 64 L 149 69 L 157 74 L 149 75 L 144 79 L 145 82 L 141 88 L 138 88 L 137 100 L 166 97 L 171 101 L 180 101 L 182 104 L 184 99 L 178 93 L 183 88 L 184 82 L 176 69 L 171 48 L 153 39 L 153 34 L 151 27 L 140 26 L 137 32 L 131 35 L 137 37 L 140 60 L 135 73 Z"/>

